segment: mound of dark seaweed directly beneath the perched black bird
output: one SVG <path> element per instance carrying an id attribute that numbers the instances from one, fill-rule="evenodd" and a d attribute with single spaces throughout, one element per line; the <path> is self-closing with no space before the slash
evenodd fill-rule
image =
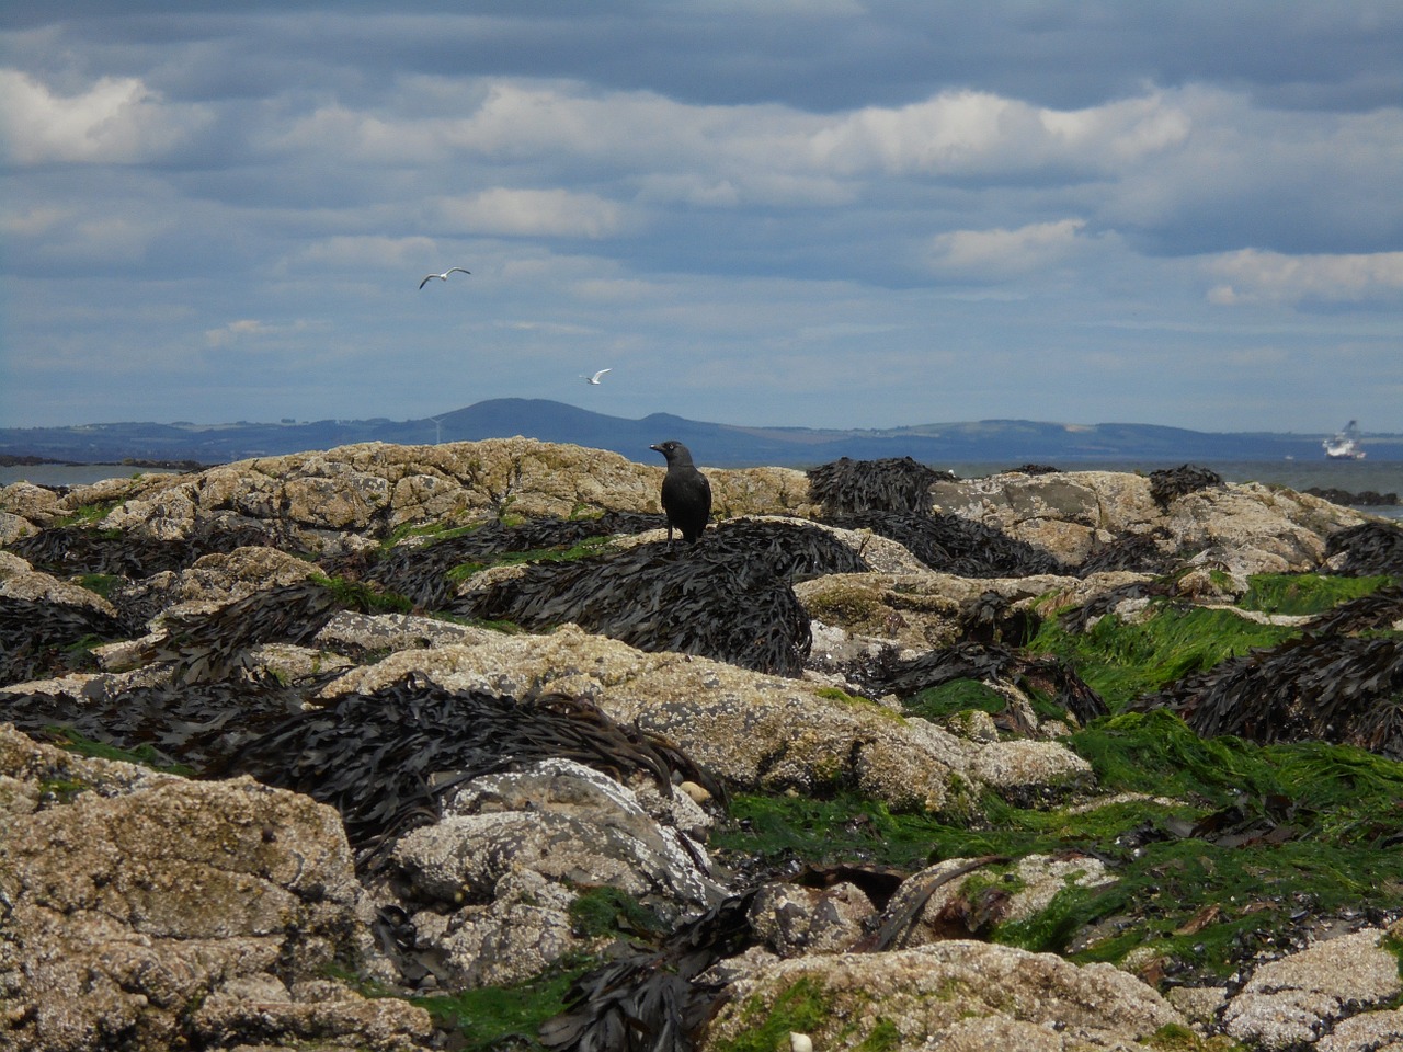
<path id="1" fill-rule="evenodd" d="M 707 530 L 696 544 L 659 541 L 571 562 L 536 562 L 448 609 L 530 630 L 571 621 L 643 651 L 798 676 L 812 635 L 793 576 L 866 569 L 861 557 L 817 526 L 738 520 Z"/>

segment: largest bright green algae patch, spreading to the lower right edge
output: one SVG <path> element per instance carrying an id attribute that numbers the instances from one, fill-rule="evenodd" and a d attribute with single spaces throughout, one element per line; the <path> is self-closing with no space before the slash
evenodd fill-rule
<path id="1" fill-rule="evenodd" d="M 1069 886 L 993 941 L 1073 961 L 1153 954 L 1180 978 L 1222 979 L 1271 950 L 1299 917 L 1403 909 L 1403 764 L 1350 746 L 1205 741 L 1156 711 L 1094 722 L 1065 739 L 1092 763 L 1103 807 L 1037 811 L 986 794 L 962 828 L 892 814 L 856 795 L 732 800 L 718 856 L 758 854 L 915 870 L 982 854 L 1083 853 L 1113 884 Z"/>

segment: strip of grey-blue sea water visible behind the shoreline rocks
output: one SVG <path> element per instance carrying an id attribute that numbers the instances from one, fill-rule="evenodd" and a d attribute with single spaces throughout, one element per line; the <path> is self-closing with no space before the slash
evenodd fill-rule
<path id="1" fill-rule="evenodd" d="M 1149 474 L 1184 461 L 1152 460 L 1076 460 L 1055 467 L 1063 471 L 1129 471 Z M 1216 471 L 1229 483 L 1266 483 L 1291 490 L 1344 490 L 1351 494 L 1376 492 L 1403 497 L 1403 460 L 1205 460 L 1198 464 Z M 1007 471 L 1009 463 L 951 463 L 932 467 L 953 471 L 960 478 L 982 478 Z M 0 467 L 0 485 L 29 481 L 36 485 L 87 485 L 104 478 L 130 478 L 135 474 L 174 474 L 166 468 L 137 468 L 130 464 L 15 464 Z M 1403 520 L 1400 505 L 1361 506 L 1361 511 Z"/>

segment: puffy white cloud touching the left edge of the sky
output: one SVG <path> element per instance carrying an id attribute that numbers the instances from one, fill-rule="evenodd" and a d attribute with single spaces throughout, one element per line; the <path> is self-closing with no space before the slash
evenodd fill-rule
<path id="1" fill-rule="evenodd" d="M 6 154 L 18 164 L 135 164 L 168 153 L 212 119 L 208 108 L 167 104 L 136 77 L 102 77 L 56 95 L 17 70 L 0 70 Z"/>

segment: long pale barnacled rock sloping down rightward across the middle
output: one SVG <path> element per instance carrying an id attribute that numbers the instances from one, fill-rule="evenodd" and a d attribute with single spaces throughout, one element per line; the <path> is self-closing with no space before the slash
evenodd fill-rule
<path id="1" fill-rule="evenodd" d="M 393 654 L 334 680 L 323 696 L 370 693 L 411 672 L 449 690 L 525 697 L 549 687 L 586 697 L 619 722 L 671 739 L 734 784 L 803 793 L 853 784 L 905 809 L 965 814 L 969 798 L 951 793 L 951 776 L 976 781 L 974 755 L 982 748 L 873 701 L 825 697 L 804 680 L 706 658 L 644 654 L 574 626 L 550 635 L 497 635 L 476 645 Z M 1034 774 L 1020 769 L 1023 757 L 1013 752 L 1002 752 L 988 767 L 1021 793 Z M 1056 784 L 1085 773 L 1059 745 L 1040 743 L 1027 759 Z"/>

